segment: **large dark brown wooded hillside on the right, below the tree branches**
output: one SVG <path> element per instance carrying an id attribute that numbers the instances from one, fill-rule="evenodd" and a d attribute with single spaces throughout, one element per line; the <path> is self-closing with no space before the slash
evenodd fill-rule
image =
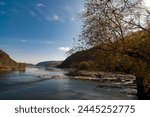
<path id="1" fill-rule="evenodd" d="M 128 35 L 124 40 L 124 51 L 122 41 L 104 43 L 78 51 L 64 60 L 60 67 L 140 73 L 141 70 L 137 70 L 145 69 L 145 64 L 150 65 L 149 36 L 150 34 L 145 31 Z"/>

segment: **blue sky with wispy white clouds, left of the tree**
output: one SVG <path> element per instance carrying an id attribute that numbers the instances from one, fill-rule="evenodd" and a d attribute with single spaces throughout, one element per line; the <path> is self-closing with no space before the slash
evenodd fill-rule
<path id="1" fill-rule="evenodd" d="M 82 0 L 0 0 L 0 48 L 19 62 L 63 60 L 82 10 Z"/>

